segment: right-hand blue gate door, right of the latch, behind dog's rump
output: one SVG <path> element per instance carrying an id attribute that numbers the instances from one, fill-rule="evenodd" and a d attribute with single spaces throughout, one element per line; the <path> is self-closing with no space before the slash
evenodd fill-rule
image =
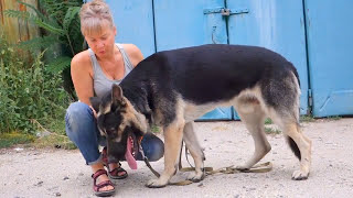
<path id="1" fill-rule="evenodd" d="M 301 1 L 227 0 L 236 14 L 228 18 L 229 44 L 270 48 L 297 67 L 300 86 L 300 111 L 308 111 L 308 67 L 304 16 Z"/>

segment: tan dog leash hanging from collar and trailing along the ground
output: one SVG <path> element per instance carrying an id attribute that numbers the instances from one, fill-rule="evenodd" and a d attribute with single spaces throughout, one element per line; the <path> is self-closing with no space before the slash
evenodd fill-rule
<path id="1" fill-rule="evenodd" d="M 186 146 L 185 146 L 185 157 L 186 157 L 186 161 L 188 161 L 190 167 L 182 167 L 182 163 L 181 163 L 182 148 L 183 148 L 183 143 L 182 143 L 181 151 L 180 151 L 180 156 L 179 156 L 179 170 L 183 172 L 183 173 L 184 172 L 193 172 L 193 170 L 195 170 L 195 167 L 193 167 L 191 165 L 191 163 L 189 162 Z M 160 177 L 160 174 L 156 169 L 152 168 L 151 164 L 149 163 L 148 157 L 145 156 L 145 153 L 143 153 L 143 150 L 142 150 L 141 145 L 139 146 L 139 150 L 141 152 L 141 155 L 143 157 L 143 161 L 145 161 L 147 167 L 149 167 L 150 170 L 157 177 Z M 272 163 L 266 162 L 266 163 L 263 163 L 263 164 L 257 164 L 257 165 L 253 166 L 249 169 L 239 169 L 239 168 L 234 167 L 234 165 L 232 165 L 232 166 L 222 167 L 222 168 L 218 168 L 218 169 L 213 169 L 213 167 L 204 167 L 203 172 L 207 176 L 207 175 L 214 175 L 214 174 L 267 173 L 267 172 L 270 172 L 271 169 L 272 169 Z M 185 185 L 190 185 L 190 184 L 193 184 L 193 182 L 192 180 L 180 180 L 180 182 L 175 182 L 175 183 L 169 183 L 169 185 L 174 185 L 174 186 L 185 186 Z"/>

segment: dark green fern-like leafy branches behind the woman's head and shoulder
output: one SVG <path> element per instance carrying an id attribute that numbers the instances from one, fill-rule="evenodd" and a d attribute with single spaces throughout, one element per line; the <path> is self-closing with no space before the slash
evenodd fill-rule
<path id="1" fill-rule="evenodd" d="M 38 25 L 44 30 L 42 37 L 35 37 L 21 42 L 20 47 L 36 54 L 47 50 L 45 56 L 49 62 L 47 70 L 62 73 L 69 76 L 67 72 L 72 57 L 85 50 L 84 37 L 81 33 L 78 12 L 82 0 L 39 0 L 40 9 L 34 6 L 17 0 L 24 4 L 30 11 L 6 10 L 4 14 L 18 18 Z M 63 77 L 66 90 L 73 96 L 71 78 Z"/>

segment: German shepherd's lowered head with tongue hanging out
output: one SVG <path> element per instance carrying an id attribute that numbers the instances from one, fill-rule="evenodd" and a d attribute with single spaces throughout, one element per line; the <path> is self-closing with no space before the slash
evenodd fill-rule
<path id="1" fill-rule="evenodd" d="M 122 89 L 113 85 L 103 98 L 92 97 L 90 103 L 97 112 L 97 127 L 106 136 L 110 162 L 126 160 L 135 166 L 140 140 L 147 132 L 146 119 L 124 97 Z M 133 168 L 133 167 L 131 167 Z"/>

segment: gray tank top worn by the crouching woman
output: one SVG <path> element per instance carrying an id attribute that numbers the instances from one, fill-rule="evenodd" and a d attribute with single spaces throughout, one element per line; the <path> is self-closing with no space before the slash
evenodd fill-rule
<path id="1" fill-rule="evenodd" d="M 119 48 L 121 56 L 122 56 L 122 59 L 124 59 L 125 74 L 124 74 L 122 78 L 125 78 L 132 70 L 133 66 L 132 66 L 127 53 L 125 52 L 122 45 L 118 44 L 118 43 L 116 43 L 116 45 Z M 111 80 L 111 79 L 107 78 L 107 76 L 104 74 L 104 72 L 100 68 L 100 65 L 97 61 L 95 53 L 90 48 L 88 48 L 88 52 L 89 52 L 93 72 L 94 72 L 94 76 L 93 76 L 94 92 L 95 92 L 95 96 L 101 98 L 105 92 L 107 92 L 111 89 L 113 84 L 119 85 L 121 82 L 121 80 Z"/>

